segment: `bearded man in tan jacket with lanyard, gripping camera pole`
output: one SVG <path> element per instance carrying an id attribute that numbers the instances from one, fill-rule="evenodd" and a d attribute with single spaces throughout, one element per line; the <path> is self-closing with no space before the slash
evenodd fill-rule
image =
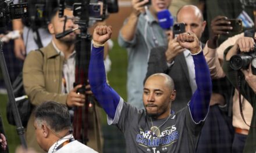
<path id="1" fill-rule="evenodd" d="M 74 31 L 65 37 L 56 39 L 56 34 L 63 32 L 63 26 L 66 30 L 77 28 L 74 24 L 72 10 L 65 9 L 65 17 L 59 17 L 56 8 L 51 14 L 51 23 L 48 24 L 48 30 L 52 34 L 52 41 L 41 52 L 31 51 L 23 67 L 24 89 L 33 105 L 39 105 L 45 101 L 57 101 L 66 104 L 68 107 L 82 107 L 86 96 L 91 94 L 90 86 L 86 86 L 86 95 L 77 93 L 77 89 L 82 85 L 73 88 L 75 81 L 75 63 L 76 63 L 76 34 Z M 85 51 L 85 50 L 84 50 Z M 86 50 L 87 51 L 87 50 Z M 94 150 L 101 152 L 102 137 L 99 121 L 99 107 L 95 103 L 88 108 L 88 142 L 87 145 Z M 35 141 L 33 127 L 33 113 L 30 116 L 27 125 L 26 138 L 29 147 L 40 148 Z M 42 152 L 42 150 L 40 150 Z"/>

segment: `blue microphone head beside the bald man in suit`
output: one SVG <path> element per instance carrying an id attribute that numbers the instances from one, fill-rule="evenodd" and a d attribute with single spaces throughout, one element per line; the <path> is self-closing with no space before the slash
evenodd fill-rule
<path id="1" fill-rule="evenodd" d="M 169 12 L 169 10 L 161 10 L 157 13 L 157 17 L 160 27 L 162 27 L 164 30 L 170 30 L 170 28 L 173 26 L 174 21 L 172 14 Z"/>

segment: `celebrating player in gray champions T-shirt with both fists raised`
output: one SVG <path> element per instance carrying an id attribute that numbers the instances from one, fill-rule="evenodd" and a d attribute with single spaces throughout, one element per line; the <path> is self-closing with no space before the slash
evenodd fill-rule
<path id="1" fill-rule="evenodd" d="M 103 25 L 94 30 L 89 82 L 95 98 L 108 114 L 109 125 L 116 125 L 125 134 L 126 152 L 195 152 L 208 113 L 212 88 L 209 69 L 196 35 L 191 32 L 177 36 L 177 42 L 190 50 L 193 56 L 198 88 L 190 103 L 175 113 L 172 111 L 172 101 L 175 100 L 176 90 L 169 75 L 154 74 L 145 81 L 145 110 L 125 103 L 106 83 L 103 46 L 111 34 L 111 27 Z"/>

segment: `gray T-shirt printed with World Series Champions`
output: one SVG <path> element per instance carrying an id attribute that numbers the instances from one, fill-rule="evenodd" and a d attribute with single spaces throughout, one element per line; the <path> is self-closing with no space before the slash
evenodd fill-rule
<path id="1" fill-rule="evenodd" d="M 189 109 L 187 106 L 176 114 L 173 113 L 168 121 L 165 118 L 152 119 L 151 122 L 145 110 L 137 110 L 120 98 L 115 118 L 108 117 L 108 123 L 118 126 L 125 134 L 127 153 L 195 152 L 204 122 L 195 123 Z M 157 127 L 162 125 L 159 127 L 158 137 L 150 130 L 152 125 Z"/>

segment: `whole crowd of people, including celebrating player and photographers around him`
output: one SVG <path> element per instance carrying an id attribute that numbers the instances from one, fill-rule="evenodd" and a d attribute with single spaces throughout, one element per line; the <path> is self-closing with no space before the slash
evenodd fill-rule
<path id="1" fill-rule="evenodd" d="M 256 37 L 255 28 L 246 27 L 253 20 L 256 25 L 256 1 L 226 2 L 222 8 L 240 8 L 212 13 L 211 3 L 203 0 L 151 0 L 150 5 L 131 0 L 118 35 L 128 54 L 127 100 L 106 77 L 111 25 L 94 28 L 88 80 L 74 85 L 80 31 L 59 39 L 56 35 L 79 25 L 69 5 L 61 17 L 58 1 L 51 2 L 45 27 L 13 20 L 13 30 L 23 31 L 13 53 L 24 60 L 23 85 L 33 105 L 23 125 L 29 150 L 17 148 L 17 153 L 104 152 L 101 109 L 108 124 L 124 134 L 123 152 L 256 152 Z M 159 25 L 158 12 L 166 9 L 175 23 L 184 23 L 183 33 L 174 35 L 172 27 Z M 230 19 L 238 17 L 244 31 L 233 31 Z M 235 64 L 245 64 L 239 57 L 250 60 L 234 70 L 233 56 Z M 81 143 L 73 136 L 73 122 L 74 111 L 84 107 L 88 128 L 86 143 Z M 0 143 L 2 150 L 8 149 L 3 134 Z"/>

